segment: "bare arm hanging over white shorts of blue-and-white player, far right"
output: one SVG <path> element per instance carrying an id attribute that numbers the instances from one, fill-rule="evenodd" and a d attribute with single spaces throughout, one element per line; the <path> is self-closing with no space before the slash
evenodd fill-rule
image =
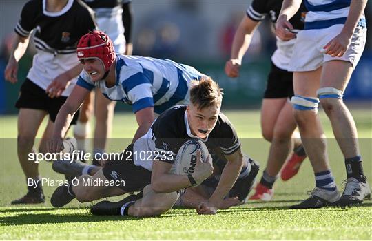
<path id="1" fill-rule="evenodd" d="M 341 57 L 349 48 L 351 43 L 351 37 L 353 36 L 354 30 L 358 24 L 358 21 L 362 17 L 364 8 L 366 8 L 367 1 L 365 0 L 353 0 L 350 3 L 349 15 L 347 21 L 344 24 L 340 34 L 335 36 L 331 41 L 324 45 L 325 54 L 329 54 L 333 57 Z"/>

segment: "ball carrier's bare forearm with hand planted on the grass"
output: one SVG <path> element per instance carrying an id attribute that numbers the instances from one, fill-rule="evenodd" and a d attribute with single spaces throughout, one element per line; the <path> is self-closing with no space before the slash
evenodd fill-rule
<path id="1" fill-rule="evenodd" d="M 227 159 L 227 164 L 221 174 L 220 182 L 218 182 L 218 186 L 208 202 L 200 205 L 198 209 L 199 214 L 214 214 L 214 209 L 221 209 L 223 207 L 223 198 L 225 198 L 231 187 L 233 187 L 240 174 L 243 163 L 241 149 L 225 157 Z"/>

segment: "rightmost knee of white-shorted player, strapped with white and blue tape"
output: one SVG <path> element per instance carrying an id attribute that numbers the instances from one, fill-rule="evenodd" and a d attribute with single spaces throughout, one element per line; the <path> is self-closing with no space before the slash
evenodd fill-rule
<path id="1" fill-rule="evenodd" d="M 320 99 L 320 104 L 322 105 L 324 112 L 327 114 L 331 114 L 333 110 L 342 103 L 342 90 L 333 87 L 323 87 L 320 88 L 316 94 Z"/>

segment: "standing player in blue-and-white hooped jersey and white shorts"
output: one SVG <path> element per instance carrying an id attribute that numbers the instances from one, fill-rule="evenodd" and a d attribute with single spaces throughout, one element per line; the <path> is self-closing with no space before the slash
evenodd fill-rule
<path id="1" fill-rule="evenodd" d="M 370 198 L 371 189 L 362 169 L 362 156 L 353 116 L 342 101 L 353 69 L 366 42 L 366 1 L 305 1 L 309 10 L 304 30 L 297 36 L 288 21 L 300 8 L 300 1 L 285 0 L 276 23 L 276 35 L 296 44 L 289 64 L 293 71 L 294 116 L 302 143 L 311 160 L 316 188 L 293 209 L 320 208 L 338 204 L 360 204 Z M 318 118 L 318 104 L 331 121 L 333 134 L 345 158 L 347 182 L 340 198 L 329 167 L 327 143 Z"/>

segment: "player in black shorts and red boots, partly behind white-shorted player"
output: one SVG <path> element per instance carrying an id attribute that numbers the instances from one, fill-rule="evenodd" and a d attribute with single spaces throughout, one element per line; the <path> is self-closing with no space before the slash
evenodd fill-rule
<path id="1" fill-rule="evenodd" d="M 271 21 L 276 23 L 281 6 L 281 0 L 254 0 L 249 6 L 246 16 L 243 17 L 236 31 L 231 59 L 225 65 L 227 76 L 238 77 L 242 57 L 247 52 L 260 21 L 269 15 Z M 303 29 L 304 14 L 306 14 L 306 8 L 301 6 L 291 19 L 293 28 L 296 30 Z M 298 138 L 299 134 L 295 132 L 296 122 L 293 118 L 291 103 L 289 103 L 289 98 L 293 96 L 293 73 L 287 70 L 293 52 L 294 39 L 292 41 L 277 39 L 276 45 L 277 49 L 271 56 L 271 71 L 261 109 L 262 135 L 271 142 L 271 146 L 267 167 L 256 186 L 256 193 L 250 197 L 252 200 L 271 200 L 273 184 L 285 160 L 289 158 L 291 149 L 294 149 L 294 153 L 282 169 L 283 180 L 289 180 L 296 175 L 300 164 L 306 158 L 300 138 Z"/>

